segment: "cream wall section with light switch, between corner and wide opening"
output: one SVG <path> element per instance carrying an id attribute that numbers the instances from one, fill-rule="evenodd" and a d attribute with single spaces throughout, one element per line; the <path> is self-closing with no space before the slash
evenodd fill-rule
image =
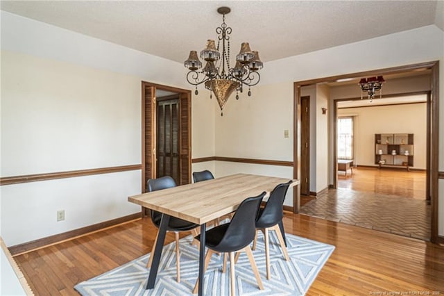
<path id="1" fill-rule="evenodd" d="M 216 113 L 216 156 L 293 161 L 293 85 L 260 85 L 252 92 L 238 101 L 232 96 L 223 116 Z"/>

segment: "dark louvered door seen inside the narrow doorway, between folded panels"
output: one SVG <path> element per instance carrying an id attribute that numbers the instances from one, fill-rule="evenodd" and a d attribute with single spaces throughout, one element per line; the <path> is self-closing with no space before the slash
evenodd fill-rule
<path id="1" fill-rule="evenodd" d="M 179 99 L 157 100 L 157 178 L 171 176 L 180 184 Z"/>

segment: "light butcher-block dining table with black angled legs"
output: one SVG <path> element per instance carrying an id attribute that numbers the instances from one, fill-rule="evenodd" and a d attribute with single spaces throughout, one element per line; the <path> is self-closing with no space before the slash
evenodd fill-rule
<path id="1" fill-rule="evenodd" d="M 206 223 L 236 211 L 239 204 L 247 197 L 257 196 L 264 191 L 266 197 L 269 196 L 275 186 L 287 183 L 289 180 L 274 176 L 233 174 L 128 197 L 128 202 L 162 213 L 154 254 L 151 254 L 153 263 L 146 289 L 154 288 L 170 216 L 200 225 L 198 295 L 203 295 Z M 293 180 L 291 186 L 298 184 L 298 180 Z"/>

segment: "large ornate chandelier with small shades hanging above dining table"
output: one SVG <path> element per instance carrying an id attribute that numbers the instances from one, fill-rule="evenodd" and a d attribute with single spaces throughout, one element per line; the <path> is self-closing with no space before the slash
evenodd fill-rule
<path id="1" fill-rule="evenodd" d="M 258 52 L 252 51 L 248 42 L 244 42 L 241 44 L 241 51 L 236 56 L 236 65 L 230 67 L 230 34 L 232 29 L 225 24 L 225 15 L 230 11 L 228 7 L 217 9 L 217 12 L 223 15 L 223 22 L 221 26 L 216 28 L 216 33 L 219 34 L 217 47 L 214 40 L 207 40 L 207 46 L 200 51 L 200 58 L 206 62 L 205 67 L 199 70 L 202 68 L 202 63 L 200 63 L 196 51 L 190 51 L 189 58 L 184 63 L 185 67 L 189 69 L 188 83 L 196 85 L 194 93 L 198 94 L 197 86 L 204 83 L 205 88 L 216 96 L 221 108 L 221 116 L 223 116 L 223 107 L 234 90 L 236 90 L 236 99 L 239 99 L 239 92 L 243 92 L 244 85 L 248 86 L 248 96 L 251 96 L 251 86 L 257 85 L 260 81 L 257 70 L 264 66 L 259 59 Z M 210 93 L 211 98 L 212 94 Z"/>

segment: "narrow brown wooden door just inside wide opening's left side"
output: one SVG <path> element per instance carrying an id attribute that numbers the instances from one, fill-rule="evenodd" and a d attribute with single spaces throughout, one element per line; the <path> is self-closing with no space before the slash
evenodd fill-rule
<path id="1" fill-rule="evenodd" d="M 300 194 L 310 195 L 310 97 L 300 98 Z"/>

